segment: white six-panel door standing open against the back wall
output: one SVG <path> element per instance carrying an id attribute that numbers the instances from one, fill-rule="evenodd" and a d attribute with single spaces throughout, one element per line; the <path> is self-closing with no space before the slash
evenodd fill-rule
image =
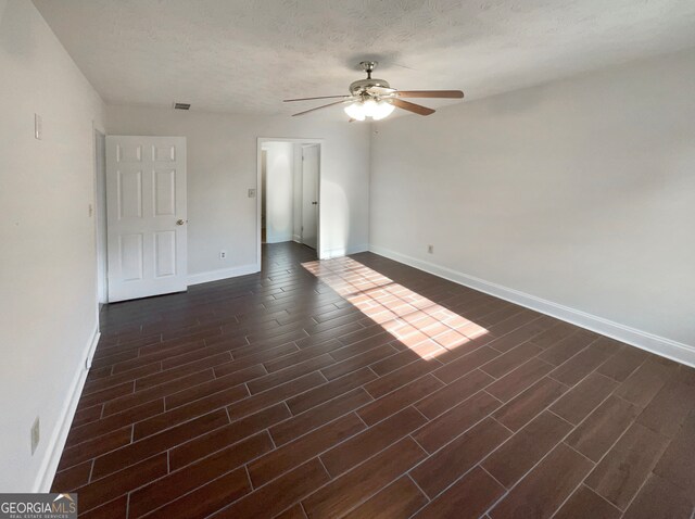
<path id="1" fill-rule="evenodd" d="M 109 302 L 187 289 L 186 137 L 106 137 Z"/>

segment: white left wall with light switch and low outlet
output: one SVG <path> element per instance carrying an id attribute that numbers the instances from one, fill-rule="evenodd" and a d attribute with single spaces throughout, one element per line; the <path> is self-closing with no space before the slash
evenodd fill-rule
<path id="1" fill-rule="evenodd" d="M 88 206 L 103 105 L 28 1 L 0 2 L 0 492 L 46 491 L 97 328 Z"/>

